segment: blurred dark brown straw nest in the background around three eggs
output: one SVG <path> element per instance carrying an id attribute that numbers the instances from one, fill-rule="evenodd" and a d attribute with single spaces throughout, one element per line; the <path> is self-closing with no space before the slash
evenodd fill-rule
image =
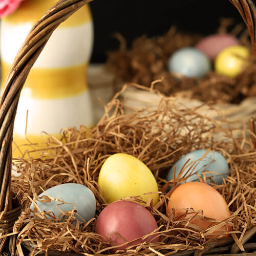
<path id="1" fill-rule="evenodd" d="M 248 30 L 243 25 L 233 26 L 232 19 L 222 19 L 218 33 L 236 35 L 242 45 L 252 48 Z M 109 52 L 106 62 L 106 69 L 114 74 L 116 87 L 122 82 L 135 82 L 150 87 L 152 81 L 161 79 L 155 89 L 166 96 L 236 104 L 247 97 L 256 96 L 254 58 L 250 60 L 249 68 L 235 78 L 214 71 L 203 78 L 187 78 L 167 71 L 169 56 L 182 47 L 195 46 L 202 38 L 201 35 L 183 33 L 172 27 L 163 36 L 141 36 L 135 39 L 131 49 L 126 47 L 121 35 L 116 37 L 120 41 L 120 49 Z"/>

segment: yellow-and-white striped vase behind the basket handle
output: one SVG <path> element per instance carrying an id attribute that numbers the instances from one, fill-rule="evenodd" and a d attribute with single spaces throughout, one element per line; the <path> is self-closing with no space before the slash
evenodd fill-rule
<path id="1" fill-rule="evenodd" d="M 2 20 L 2 87 L 29 30 L 56 2 L 25 0 L 14 14 Z M 92 125 L 86 81 L 92 43 L 93 21 L 86 5 L 54 31 L 27 78 L 14 124 L 13 157 L 31 149 L 20 146 L 28 141 L 44 145 L 42 132 L 58 136 L 64 127 Z"/>

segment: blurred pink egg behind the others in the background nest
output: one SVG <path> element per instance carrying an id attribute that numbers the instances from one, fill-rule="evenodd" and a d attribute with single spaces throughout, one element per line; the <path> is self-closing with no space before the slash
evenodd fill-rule
<path id="1" fill-rule="evenodd" d="M 217 55 L 229 46 L 240 45 L 239 40 L 233 35 L 214 34 L 209 35 L 198 42 L 195 46 L 203 52 L 211 61 L 214 61 Z"/>

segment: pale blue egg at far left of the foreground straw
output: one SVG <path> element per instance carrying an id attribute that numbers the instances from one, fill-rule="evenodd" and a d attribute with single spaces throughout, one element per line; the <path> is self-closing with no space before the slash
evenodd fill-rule
<path id="1" fill-rule="evenodd" d="M 92 191 L 84 185 L 76 183 L 60 184 L 47 189 L 38 197 L 46 196 L 46 194 L 50 197 L 53 197 L 54 199 L 59 199 L 65 202 L 64 204 L 62 204 L 61 202 L 53 200 L 47 203 L 36 201 L 36 204 L 40 208 L 40 210 L 46 212 L 52 211 L 56 218 L 61 214 L 61 211 L 57 209 L 57 207 L 60 208 L 62 211 L 68 211 L 73 210 L 74 205 L 76 213 L 81 217 L 80 218 L 78 215 L 75 214 L 74 216 L 76 220 L 80 222 L 82 222 L 83 220 L 89 221 L 95 216 L 95 196 Z M 31 209 L 34 209 L 33 204 L 31 205 Z"/>

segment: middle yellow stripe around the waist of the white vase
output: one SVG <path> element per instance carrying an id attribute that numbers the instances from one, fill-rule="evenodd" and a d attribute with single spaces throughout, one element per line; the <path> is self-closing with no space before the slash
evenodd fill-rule
<path id="1" fill-rule="evenodd" d="M 54 99 L 75 96 L 87 90 L 86 69 L 88 64 L 70 68 L 33 68 L 24 88 L 31 89 L 31 97 Z M 10 65 L 2 62 L 2 88 Z"/>

